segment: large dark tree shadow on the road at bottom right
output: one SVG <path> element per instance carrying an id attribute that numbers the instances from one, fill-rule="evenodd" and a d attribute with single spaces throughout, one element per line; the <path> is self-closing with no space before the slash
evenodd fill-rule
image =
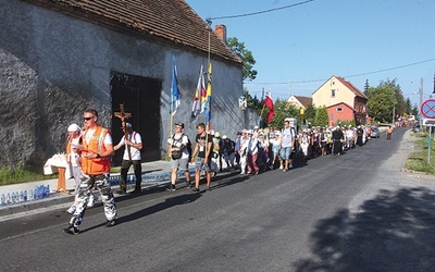
<path id="1" fill-rule="evenodd" d="M 310 239 L 314 257 L 296 271 L 434 271 L 435 194 L 381 190 L 357 213 L 320 221 Z"/>

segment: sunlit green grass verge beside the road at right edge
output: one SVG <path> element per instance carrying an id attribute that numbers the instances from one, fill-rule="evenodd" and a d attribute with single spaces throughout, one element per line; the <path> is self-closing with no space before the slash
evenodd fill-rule
<path id="1" fill-rule="evenodd" d="M 435 141 L 431 144 L 431 162 L 427 161 L 428 157 L 428 140 L 426 133 L 415 133 L 414 152 L 410 154 L 405 168 L 408 170 L 435 174 Z"/>

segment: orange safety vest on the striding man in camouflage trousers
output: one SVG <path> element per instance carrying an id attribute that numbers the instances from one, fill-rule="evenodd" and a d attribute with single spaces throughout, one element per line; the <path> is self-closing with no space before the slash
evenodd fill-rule
<path id="1" fill-rule="evenodd" d="M 83 147 L 85 151 L 92 151 L 95 153 L 101 153 L 105 151 L 104 148 L 104 138 L 109 133 L 108 129 L 97 126 L 92 137 L 89 140 L 89 144 L 86 143 L 86 133 L 83 135 Z M 100 175 L 110 172 L 110 158 L 97 158 L 97 159 L 88 159 L 82 157 L 82 170 L 85 174 L 88 175 Z"/>

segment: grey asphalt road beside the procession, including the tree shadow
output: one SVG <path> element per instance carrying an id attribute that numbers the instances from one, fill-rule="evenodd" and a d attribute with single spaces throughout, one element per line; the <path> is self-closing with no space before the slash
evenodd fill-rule
<path id="1" fill-rule="evenodd" d="M 435 180 L 401 171 L 411 138 L 397 128 L 287 173 L 221 176 L 208 193 L 117 198 L 117 225 L 95 207 L 75 236 L 63 208 L 3 221 L 1 270 L 434 271 Z"/>

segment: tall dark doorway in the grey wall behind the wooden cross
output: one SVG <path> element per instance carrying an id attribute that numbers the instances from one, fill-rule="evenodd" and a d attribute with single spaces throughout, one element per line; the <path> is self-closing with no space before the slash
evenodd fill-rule
<path id="1" fill-rule="evenodd" d="M 124 111 L 132 113 L 126 122 L 132 123 L 133 129 L 142 138 L 142 161 L 161 159 L 160 151 L 160 92 L 162 83 L 156 78 L 147 78 L 111 72 L 112 111 L 119 112 L 120 104 L 124 104 Z M 113 145 L 117 145 L 123 136 L 121 120 L 113 116 L 112 137 Z M 113 164 L 120 165 L 124 154 L 124 148 L 115 152 Z"/>

